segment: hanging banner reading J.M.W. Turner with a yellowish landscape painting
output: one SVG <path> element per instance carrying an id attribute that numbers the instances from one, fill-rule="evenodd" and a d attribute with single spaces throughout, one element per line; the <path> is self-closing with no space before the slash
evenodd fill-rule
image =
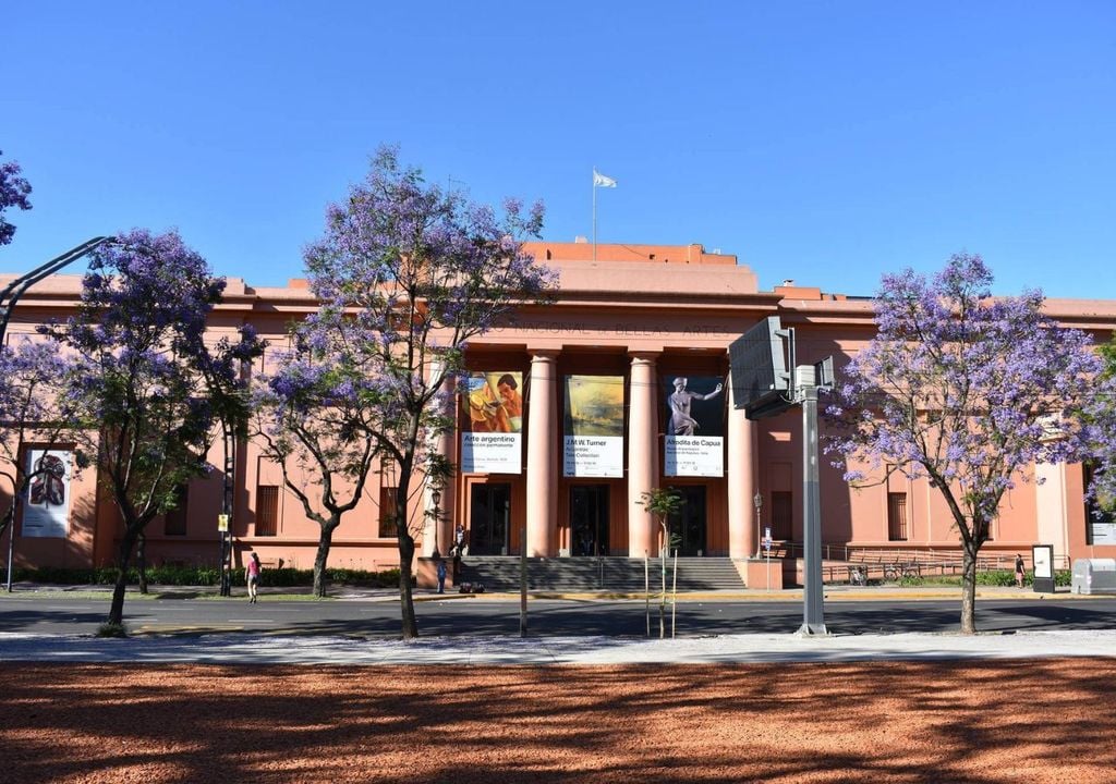
<path id="1" fill-rule="evenodd" d="M 624 476 L 624 377 L 566 376 L 562 476 Z"/>

